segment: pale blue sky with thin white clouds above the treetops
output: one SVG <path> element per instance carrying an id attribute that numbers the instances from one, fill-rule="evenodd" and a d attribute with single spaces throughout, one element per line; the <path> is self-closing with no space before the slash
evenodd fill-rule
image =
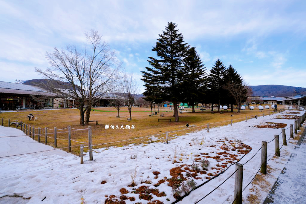
<path id="1" fill-rule="evenodd" d="M 46 52 L 82 48 L 99 31 L 138 79 L 167 22 L 195 46 L 207 71 L 216 59 L 250 85 L 306 87 L 306 1 L 2 1 L 0 81 L 40 79 Z"/>

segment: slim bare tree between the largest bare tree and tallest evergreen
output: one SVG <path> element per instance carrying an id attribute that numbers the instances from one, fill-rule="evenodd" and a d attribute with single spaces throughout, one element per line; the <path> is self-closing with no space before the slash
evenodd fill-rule
<path id="1" fill-rule="evenodd" d="M 124 76 L 122 91 L 125 105 L 128 107 L 130 113 L 130 120 L 132 120 L 132 106 L 134 105 L 135 100 L 137 100 L 140 90 L 135 77 L 131 73 Z"/>

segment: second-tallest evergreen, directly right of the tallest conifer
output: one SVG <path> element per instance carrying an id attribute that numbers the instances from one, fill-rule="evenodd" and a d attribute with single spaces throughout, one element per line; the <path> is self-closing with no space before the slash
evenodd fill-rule
<path id="1" fill-rule="evenodd" d="M 195 47 L 191 47 L 184 59 L 183 90 L 185 100 L 192 106 L 192 113 L 195 113 L 194 106 L 203 94 L 201 87 L 206 81 L 205 68 Z"/>

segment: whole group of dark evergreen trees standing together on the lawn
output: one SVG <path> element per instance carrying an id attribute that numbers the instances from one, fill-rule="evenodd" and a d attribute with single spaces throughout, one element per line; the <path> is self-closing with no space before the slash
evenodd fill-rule
<path id="1" fill-rule="evenodd" d="M 237 104 L 238 112 L 242 102 L 246 101 L 248 86 L 237 71 L 230 65 L 227 69 L 219 59 L 206 73 L 206 67 L 195 47 L 184 42 L 182 33 L 173 22 L 168 23 L 165 31 L 159 34 L 152 51 L 157 58 L 149 57 L 151 67 L 142 72 L 145 83 L 145 100 L 160 103 L 171 101 L 174 105 L 175 121 L 179 121 L 177 103 L 188 103 L 194 107 L 198 103 Z"/>

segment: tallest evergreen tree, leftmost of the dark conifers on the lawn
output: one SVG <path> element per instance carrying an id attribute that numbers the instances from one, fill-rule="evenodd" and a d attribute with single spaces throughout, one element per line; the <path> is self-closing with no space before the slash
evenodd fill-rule
<path id="1" fill-rule="evenodd" d="M 182 33 L 176 29 L 173 22 L 168 23 L 166 30 L 159 34 L 152 51 L 158 58 L 149 57 L 147 71 L 141 71 L 147 88 L 157 87 L 159 95 L 164 101 L 173 102 L 174 119 L 179 122 L 177 103 L 181 101 L 181 86 L 183 77 L 183 59 L 189 46 L 184 43 Z"/>

